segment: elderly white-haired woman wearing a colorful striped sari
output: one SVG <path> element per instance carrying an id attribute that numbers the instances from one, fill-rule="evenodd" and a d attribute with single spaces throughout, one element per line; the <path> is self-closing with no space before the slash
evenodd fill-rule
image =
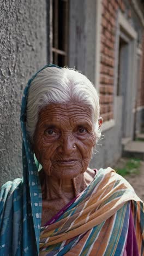
<path id="1" fill-rule="evenodd" d="M 110 167 L 88 167 L 100 125 L 81 73 L 46 65 L 29 80 L 23 178 L 0 193 L 0 255 L 143 255 L 143 203 Z"/>

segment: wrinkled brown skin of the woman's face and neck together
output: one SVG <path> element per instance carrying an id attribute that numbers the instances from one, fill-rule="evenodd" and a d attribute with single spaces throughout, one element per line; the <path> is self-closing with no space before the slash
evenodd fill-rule
<path id="1" fill-rule="evenodd" d="M 34 153 L 43 166 L 41 225 L 92 182 L 88 168 L 95 134 L 91 110 L 82 104 L 50 104 L 40 110 L 34 133 Z"/>

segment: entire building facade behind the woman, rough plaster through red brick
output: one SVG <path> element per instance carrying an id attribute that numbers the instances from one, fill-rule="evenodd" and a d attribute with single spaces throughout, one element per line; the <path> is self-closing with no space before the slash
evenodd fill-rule
<path id="1" fill-rule="evenodd" d="M 21 177 L 20 102 L 45 63 L 92 81 L 104 119 L 91 167 L 113 165 L 144 120 L 144 6 L 138 0 L 29 0 L 1 5 L 1 184 Z M 11 172 L 13 170 L 13 172 Z"/>

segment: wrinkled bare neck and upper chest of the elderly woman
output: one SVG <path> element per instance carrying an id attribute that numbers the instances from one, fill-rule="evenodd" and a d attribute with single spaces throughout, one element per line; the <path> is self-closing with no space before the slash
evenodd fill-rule
<path id="1" fill-rule="evenodd" d="M 40 182 L 43 198 L 41 225 L 45 225 L 75 196 L 79 195 L 93 181 L 95 172 L 88 169 L 73 179 L 56 179 L 40 171 Z"/>

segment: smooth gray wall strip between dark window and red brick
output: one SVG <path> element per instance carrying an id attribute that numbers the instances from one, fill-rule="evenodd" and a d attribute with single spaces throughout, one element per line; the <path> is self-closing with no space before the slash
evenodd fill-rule
<path id="1" fill-rule="evenodd" d="M 94 83 L 95 71 L 95 0 L 70 0 L 69 67 L 80 70 Z"/>

